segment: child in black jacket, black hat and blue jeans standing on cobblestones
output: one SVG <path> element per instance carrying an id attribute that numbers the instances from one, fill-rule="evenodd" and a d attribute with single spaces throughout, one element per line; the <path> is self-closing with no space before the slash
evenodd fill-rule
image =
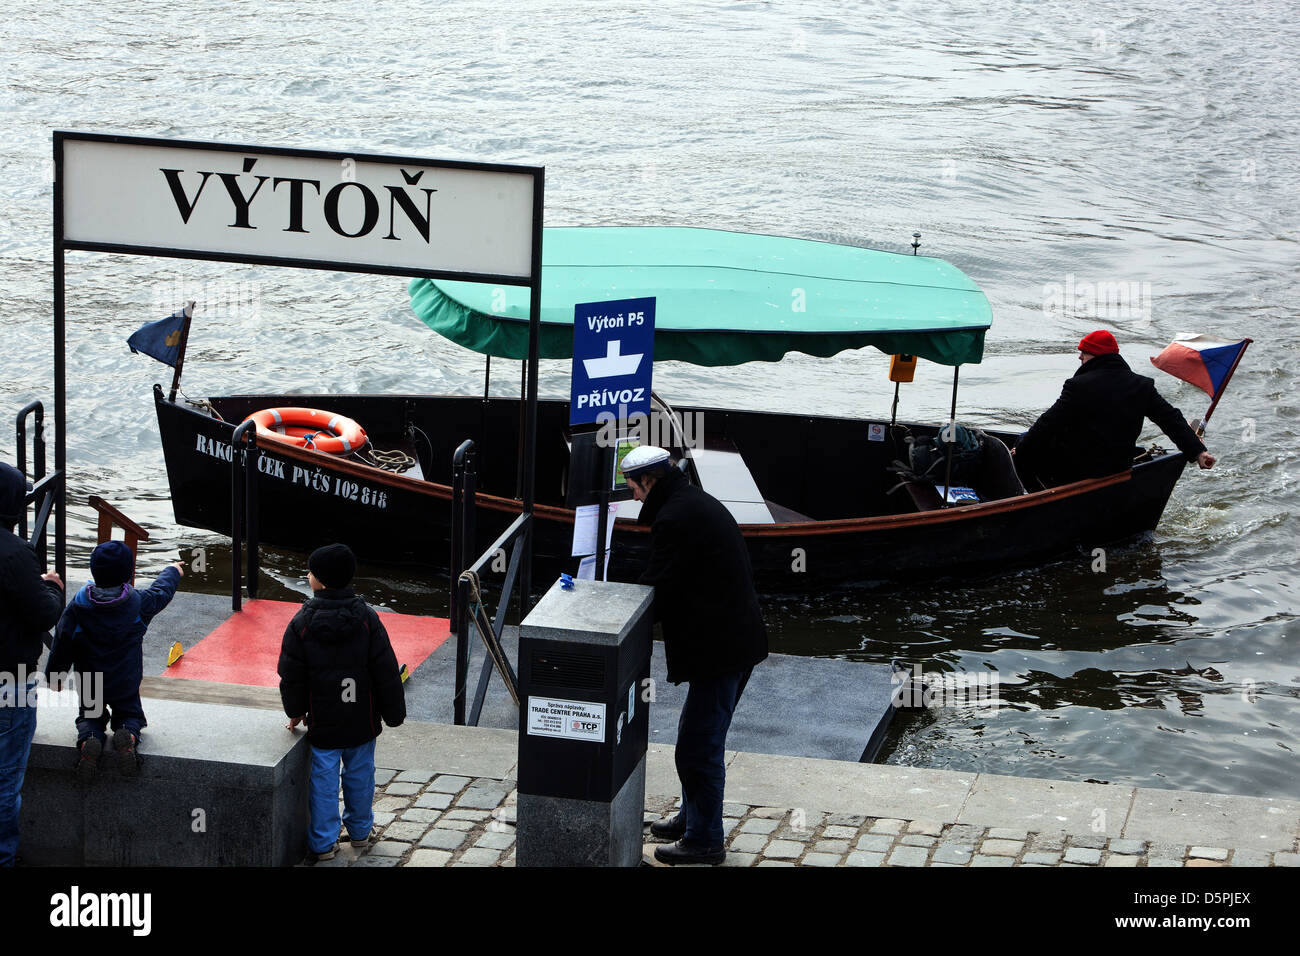
<path id="1" fill-rule="evenodd" d="M 326 545 L 307 559 L 308 601 L 285 628 L 280 696 L 289 728 L 307 724 L 312 745 L 308 849 L 315 861 L 338 852 L 339 763 L 343 819 L 354 847 L 374 826 L 374 740 L 380 723 L 399 727 L 406 695 L 396 656 L 380 615 L 348 587 L 356 558 L 347 545 Z"/>

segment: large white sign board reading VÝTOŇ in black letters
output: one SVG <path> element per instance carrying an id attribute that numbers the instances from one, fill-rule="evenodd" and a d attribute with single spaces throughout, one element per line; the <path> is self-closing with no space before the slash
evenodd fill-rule
<path id="1" fill-rule="evenodd" d="M 77 135 L 56 138 L 72 248 L 533 278 L 540 169 Z"/>

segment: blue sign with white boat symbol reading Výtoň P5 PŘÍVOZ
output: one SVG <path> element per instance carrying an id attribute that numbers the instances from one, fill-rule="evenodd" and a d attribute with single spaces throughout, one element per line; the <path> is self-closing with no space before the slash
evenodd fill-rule
<path id="1" fill-rule="evenodd" d="M 571 425 L 650 414 L 654 304 L 651 297 L 573 307 Z"/>

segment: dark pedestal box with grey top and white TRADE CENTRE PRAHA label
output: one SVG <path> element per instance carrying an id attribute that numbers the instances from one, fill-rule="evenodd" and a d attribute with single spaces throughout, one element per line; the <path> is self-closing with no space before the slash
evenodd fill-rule
<path id="1" fill-rule="evenodd" d="M 641 862 L 653 601 L 556 581 L 520 624 L 517 866 Z"/>

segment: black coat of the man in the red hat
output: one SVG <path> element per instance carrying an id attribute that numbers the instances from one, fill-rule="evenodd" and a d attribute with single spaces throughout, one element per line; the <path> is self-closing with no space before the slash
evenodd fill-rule
<path id="1" fill-rule="evenodd" d="M 1061 389 L 1061 398 L 1017 444 L 1017 467 L 1046 484 L 1127 471 L 1144 418 L 1154 421 L 1188 460 L 1205 450 L 1183 414 L 1156 392 L 1154 381 L 1131 371 L 1119 355 L 1097 355 L 1079 365 Z"/>

